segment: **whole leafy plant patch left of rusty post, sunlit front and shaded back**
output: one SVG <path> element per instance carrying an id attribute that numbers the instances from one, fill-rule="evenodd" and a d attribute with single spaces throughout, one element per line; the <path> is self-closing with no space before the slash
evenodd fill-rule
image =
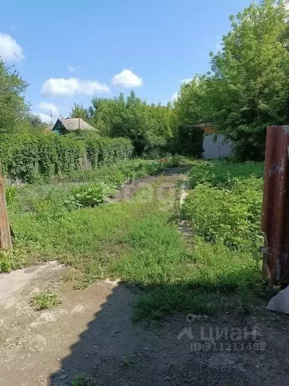
<path id="1" fill-rule="evenodd" d="M 200 161 L 190 172 L 194 187 L 182 208 L 194 231 L 207 242 L 221 240 L 230 248 L 261 245 L 263 163 Z"/>

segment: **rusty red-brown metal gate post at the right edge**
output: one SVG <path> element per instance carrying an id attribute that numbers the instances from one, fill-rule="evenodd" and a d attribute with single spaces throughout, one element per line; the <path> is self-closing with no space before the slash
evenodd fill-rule
<path id="1" fill-rule="evenodd" d="M 265 278 L 289 282 L 289 126 L 267 127 L 262 231 Z"/>

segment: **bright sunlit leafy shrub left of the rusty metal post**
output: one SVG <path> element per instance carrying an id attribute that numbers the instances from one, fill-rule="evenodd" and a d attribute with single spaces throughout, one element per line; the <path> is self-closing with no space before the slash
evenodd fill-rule
<path id="1" fill-rule="evenodd" d="M 221 240 L 232 248 L 261 245 L 262 180 L 234 179 L 231 189 L 199 184 L 189 192 L 181 209 L 195 234 L 207 242 Z"/>

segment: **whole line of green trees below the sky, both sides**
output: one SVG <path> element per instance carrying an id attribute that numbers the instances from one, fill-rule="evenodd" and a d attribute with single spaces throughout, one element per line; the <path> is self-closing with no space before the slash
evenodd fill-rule
<path id="1" fill-rule="evenodd" d="M 135 154 L 146 157 L 200 156 L 202 133 L 194 124 L 212 122 L 233 141 L 238 159 L 263 159 L 266 126 L 289 124 L 288 4 L 253 2 L 230 21 L 220 51 L 210 53 L 211 70 L 183 83 L 174 103 L 150 105 L 131 91 L 94 98 L 88 108 L 74 104 L 71 117 L 102 136 L 130 139 Z M 0 133 L 43 128 L 25 101 L 27 85 L 0 61 Z"/>

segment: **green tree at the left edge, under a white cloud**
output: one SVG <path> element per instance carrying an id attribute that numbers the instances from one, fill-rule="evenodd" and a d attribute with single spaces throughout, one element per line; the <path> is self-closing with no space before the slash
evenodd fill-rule
<path id="1" fill-rule="evenodd" d="M 29 106 L 23 92 L 27 86 L 13 67 L 0 60 L 0 133 L 15 133 L 25 126 Z"/>

